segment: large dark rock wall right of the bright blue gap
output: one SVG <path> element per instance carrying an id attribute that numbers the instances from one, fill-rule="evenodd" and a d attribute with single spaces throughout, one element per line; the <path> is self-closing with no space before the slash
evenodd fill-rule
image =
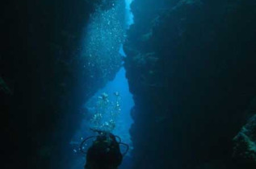
<path id="1" fill-rule="evenodd" d="M 255 9 L 252 0 L 132 3 L 133 168 L 243 168 L 233 138 L 256 95 Z"/>

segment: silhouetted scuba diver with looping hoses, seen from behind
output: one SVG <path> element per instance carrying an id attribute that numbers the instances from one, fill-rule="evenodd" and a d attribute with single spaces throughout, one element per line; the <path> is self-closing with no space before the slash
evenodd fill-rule
<path id="1" fill-rule="evenodd" d="M 107 131 L 94 130 L 97 136 L 90 136 L 81 142 L 80 150 L 86 154 L 85 169 L 117 169 L 122 163 L 124 155 L 128 153 L 129 146 L 121 142 L 121 138 Z M 87 150 L 83 151 L 83 145 L 91 138 L 96 138 Z M 118 138 L 116 140 L 116 138 Z M 126 150 L 122 155 L 120 145 L 126 146 Z"/>

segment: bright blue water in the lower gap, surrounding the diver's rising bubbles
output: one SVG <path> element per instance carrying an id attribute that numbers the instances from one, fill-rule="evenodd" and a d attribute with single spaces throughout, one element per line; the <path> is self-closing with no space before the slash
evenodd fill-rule
<path id="1" fill-rule="evenodd" d="M 120 169 L 127 168 L 128 164 L 131 164 L 130 161 L 130 152 L 132 150 L 132 141 L 129 134 L 129 129 L 132 125 L 132 117 L 130 114 L 130 110 L 132 109 L 134 102 L 132 99 L 132 94 L 129 92 L 128 89 L 128 80 L 125 78 L 125 69 L 120 68 L 120 71 L 116 74 L 115 79 L 109 82 L 103 89 L 100 89 L 98 93 L 94 94 L 94 97 L 85 104 L 86 108 L 90 112 L 90 116 L 94 114 L 94 109 L 92 107 L 95 104 L 95 101 L 98 100 L 98 97 L 101 96 L 102 93 L 108 94 L 109 101 L 115 101 L 114 93 L 118 92 L 120 94 L 120 114 L 115 119 L 115 130 L 111 132 L 115 135 L 120 136 L 122 142 L 127 143 L 130 146 L 128 154 L 124 156 L 123 163 L 120 166 Z M 110 104 L 111 106 L 111 104 Z M 108 109 L 108 108 L 107 108 Z M 111 108 L 110 108 L 111 109 Z M 111 117 L 107 115 L 107 117 Z M 107 122 L 107 117 L 103 119 L 103 122 Z M 73 169 L 82 168 L 83 164 L 86 163 L 85 156 L 81 155 L 79 152 L 78 146 L 79 143 L 82 142 L 82 139 L 86 137 L 90 137 L 91 135 L 95 135 L 93 132 L 90 131 L 91 117 L 83 119 L 81 129 L 78 130 L 77 134 L 75 134 L 71 144 L 73 144 L 73 153 L 78 156 L 78 160 L 74 162 Z M 102 123 L 103 123 L 102 122 Z M 85 151 L 90 147 L 91 140 L 86 143 Z M 121 146 L 121 151 L 124 152 L 124 147 Z"/>

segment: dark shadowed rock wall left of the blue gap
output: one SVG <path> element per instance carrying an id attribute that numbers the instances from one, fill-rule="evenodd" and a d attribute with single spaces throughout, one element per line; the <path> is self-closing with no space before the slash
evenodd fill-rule
<path id="1" fill-rule="evenodd" d="M 95 7 L 108 10 L 112 2 L 14 0 L 1 6 L 1 168 L 70 168 L 69 142 L 85 113 L 82 103 L 115 74 L 98 76 L 92 85 L 80 57 L 82 36 Z"/>

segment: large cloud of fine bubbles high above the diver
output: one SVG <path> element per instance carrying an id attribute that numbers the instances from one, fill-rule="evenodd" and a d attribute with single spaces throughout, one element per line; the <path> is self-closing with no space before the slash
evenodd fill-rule
<path id="1" fill-rule="evenodd" d="M 112 79 L 122 63 L 119 50 L 125 35 L 124 14 L 121 14 L 124 12 L 124 2 L 115 1 L 111 6 L 108 10 L 99 6 L 91 15 L 87 27 L 82 56 L 90 80 Z"/>

